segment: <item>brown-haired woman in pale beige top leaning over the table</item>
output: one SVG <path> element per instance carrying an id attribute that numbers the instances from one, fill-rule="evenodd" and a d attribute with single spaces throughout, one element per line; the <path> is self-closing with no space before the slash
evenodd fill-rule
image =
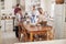
<path id="1" fill-rule="evenodd" d="M 45 12 L 43 11 L 42 8 L 38 8 L 38 23 L 41 22 L 46 22 L 47 21 L 47 14 L 45 14 Z"/>

